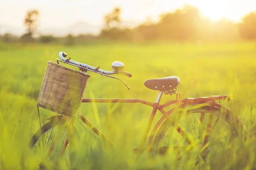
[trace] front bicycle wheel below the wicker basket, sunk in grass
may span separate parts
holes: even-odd
[[[76,169],[76,142],[79,138],[70,119],[44,124],[30,139],[36,169]]]

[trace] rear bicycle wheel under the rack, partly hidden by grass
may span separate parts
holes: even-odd
[[[172,152],[179,158],[184,153],[191,156],[193,148],[199,147],[204,158],[236,138],[239,130],[246,130],[228,109],[214,107],[211,111],[209,105],[188,106],[170,118],[163,121],[153,140],[153,148],[160,155]]]

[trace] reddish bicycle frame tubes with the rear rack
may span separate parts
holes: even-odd
[[[145,143],[145,140],[149,134],[149,130],[150,127],[152,126],[152,122],[154,120],[154,116],[157,112],[157,110],[159,110],[163,116],[158,120],[158,122],[156,123],[156,125],[154,125],[154,128],[149,136],[149,140],[151,141],[152,138],[154,137],[154,133],[157,131],[157,127],[159,127],[159,125],[161,124],[161,122],[163,122],[164,119],[169,119],[170,115],[175,111],[175,109],[180,109],[180,108],[184,108],[185,106],[188,105],[195,105],[195,104],[205,104],[205,105],[211,105],[212,107],[215,106],[215,101],[216,100],[231,100],[229,95],[221,95],[221,96],[208,96],[208,97],[198,97],[198,98],[187,98],[187,99],[175,99],[175,100],[171,100],[169,102],[166,102],[163,105],[160,105],[160,99],[163,95],[163,91],[159,91],[158,96],[156,101],[153,102],[149,102],[143,99],[83,99],[82,102],[84,103],[90,103],[90,102],[99,102],[99,103],[142,103],[144,105],[148,105],[151,106],[153,109],[151,111],[151,114],[149,116],[148,119],[148,123],[146,125],[146,129],[143,133],[143,136],[140,140],[140,144],[137,148],[133,148],[137,153],[136,156],[138,156],[142,150],[143,150],[143,144]],[[170,109],[169,111],[166,111],[164,108],[172,105],[172,104],[176,104],[177,107],[174,107],[172,109]],[[224,107],[221,105],[221,107]],[[227,109],[227,108],[226,108]],[[90,127],[97,135],[101,136],[102,139],[104,141],[107,141],[111,144],[113,144],[97,127],[95,127],[88,119],[86,119],[83,115],[80,115],[79,118],[81,119],[81,121],[83,121],[88,127]],[[209,119],[209,124],[211,124],[211,119]],[[179,129],[180,131],[183,131],[181,128]],[[208,137],[206,137],[205,143],[208,142]],[[150,142],[148,142],[148,147],[145,147],[144,149],[148,149],[150,150]]]

